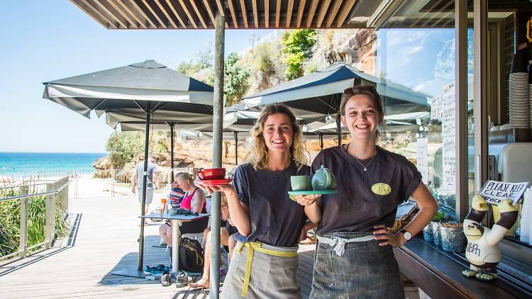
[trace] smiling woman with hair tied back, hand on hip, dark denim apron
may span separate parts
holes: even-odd
[[[417,235],[438,205],[414,164],[376,145],[384,113],[373,86],[345,89],[341,121],[351,141],[318,153],[312,171],[325,165],[338,193],[320,200],[323,217],[310,298],[404,298],[392,247]],[[397,205],[414,198],[419,213],[392,234]]]

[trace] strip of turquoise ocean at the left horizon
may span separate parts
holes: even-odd
[[[66,174],[68,171],[94,171],[92,163],[106,153],[0,152],[0,176]]]

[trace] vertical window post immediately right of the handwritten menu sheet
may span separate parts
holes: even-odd
[[[455,1],[456,220],[469,210],[467,190],[467,1]]]

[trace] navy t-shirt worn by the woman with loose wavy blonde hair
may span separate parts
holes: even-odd
[[[251,232],[236,235],[239,242],[261,242],[278,247],[297,245],[306,221],[304,207],[288,197],[290,176],[309,175],[310,167],[290,164],[283,171],[257,170],[250,163],[240,165],[233,179],[242,203],[250,208]]]

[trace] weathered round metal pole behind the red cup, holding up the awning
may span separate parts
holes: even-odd
[[[213,167],[222,165],[222,125],[223,125],[223,51],[225,47],[225,16],[216,12],[214,42],[214,114],[213,114]],[[211,205],[211,293],[210,298],[220,296],[220,201],[221,193],[215,192]]]

